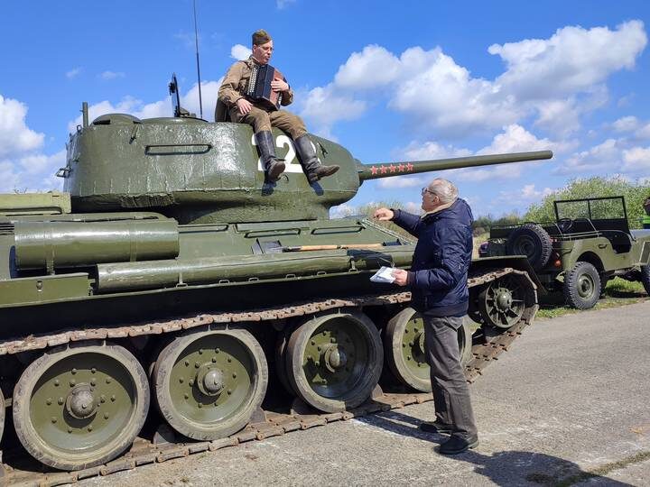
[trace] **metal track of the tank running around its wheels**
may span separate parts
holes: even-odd
[[[525,271],[517,271],[512,268],[503,268],[495,271],[470,275],[469,287],[486,284],[491,280],[507,274],[519,274],[530,281],[531,289],[535,289],[534,282],[530,280]],[[209,324],[228,324],[240,322],[256,322],[287,317],[297,317],[326,311],[333,308],[358,308],[364,306],[380,306],[386,304],[406,303],[411,300],[410,292],[400,292],[385,295],[363,296],[354,299],[326,299],[304,303],[288,308],[268,308],[264,310],[250,311],[246,313],[223,313],[217,315],[199,315],[173,319],[163,322],[136,324],[133,326],[120,326],[112,328],[97,328],[91,330],[68,330],[56,335],[28,336],[22,340],[0,342],[0,355],[17,354],[32,350],[42,350],[55,345],[65,345],[70,342],[83,340],[102,340],[111,338],[125,338],[139,335],[160,335],[172,333],[184,329]],[[536,304],[527,306],[522,318],[502,333],[484,333],[482,339],[475,334],[475,342],[472,345],[474,358],[465,365],[465,376],[469,382],[475,381],[489,363],[497,360],[498,355],[506,352],[515,338],[522,334],[524,328],[533,323],[535,313],[539,308]],[[237,434],[227,438],[192,443],[153,443],[152,441],[138,437],[131,449],[121,457],[107,464],[87,468],[75,472],[29,472],[14,469],[10,464],[0,464],[0,484],[17,486],[54,486],[66,483],[79,482],[98,475],[109,475],[111,473],[132,470],[144,464],[162,463],[174,458],[182,458],[201,452],[216,451],[228,446],[237,446],[253,440],[265,440],[272,436],[281,436],[285,433],[320,427],[332,422],[359,418],[376,412],[390,409],[404,408],[410,404],[421,404],[433,400],[432,393],[385,393],[377,386],[372,397],[364,404],[355,409],[335,413],[319,413],[302,409],[292,408],[289,414],[282,414],[274,411],[259,411],[255,415],[254,422],[250,423]],[[11,400],[5,400],[6,405]],[[0,452],[0,455],[2,452]]]

